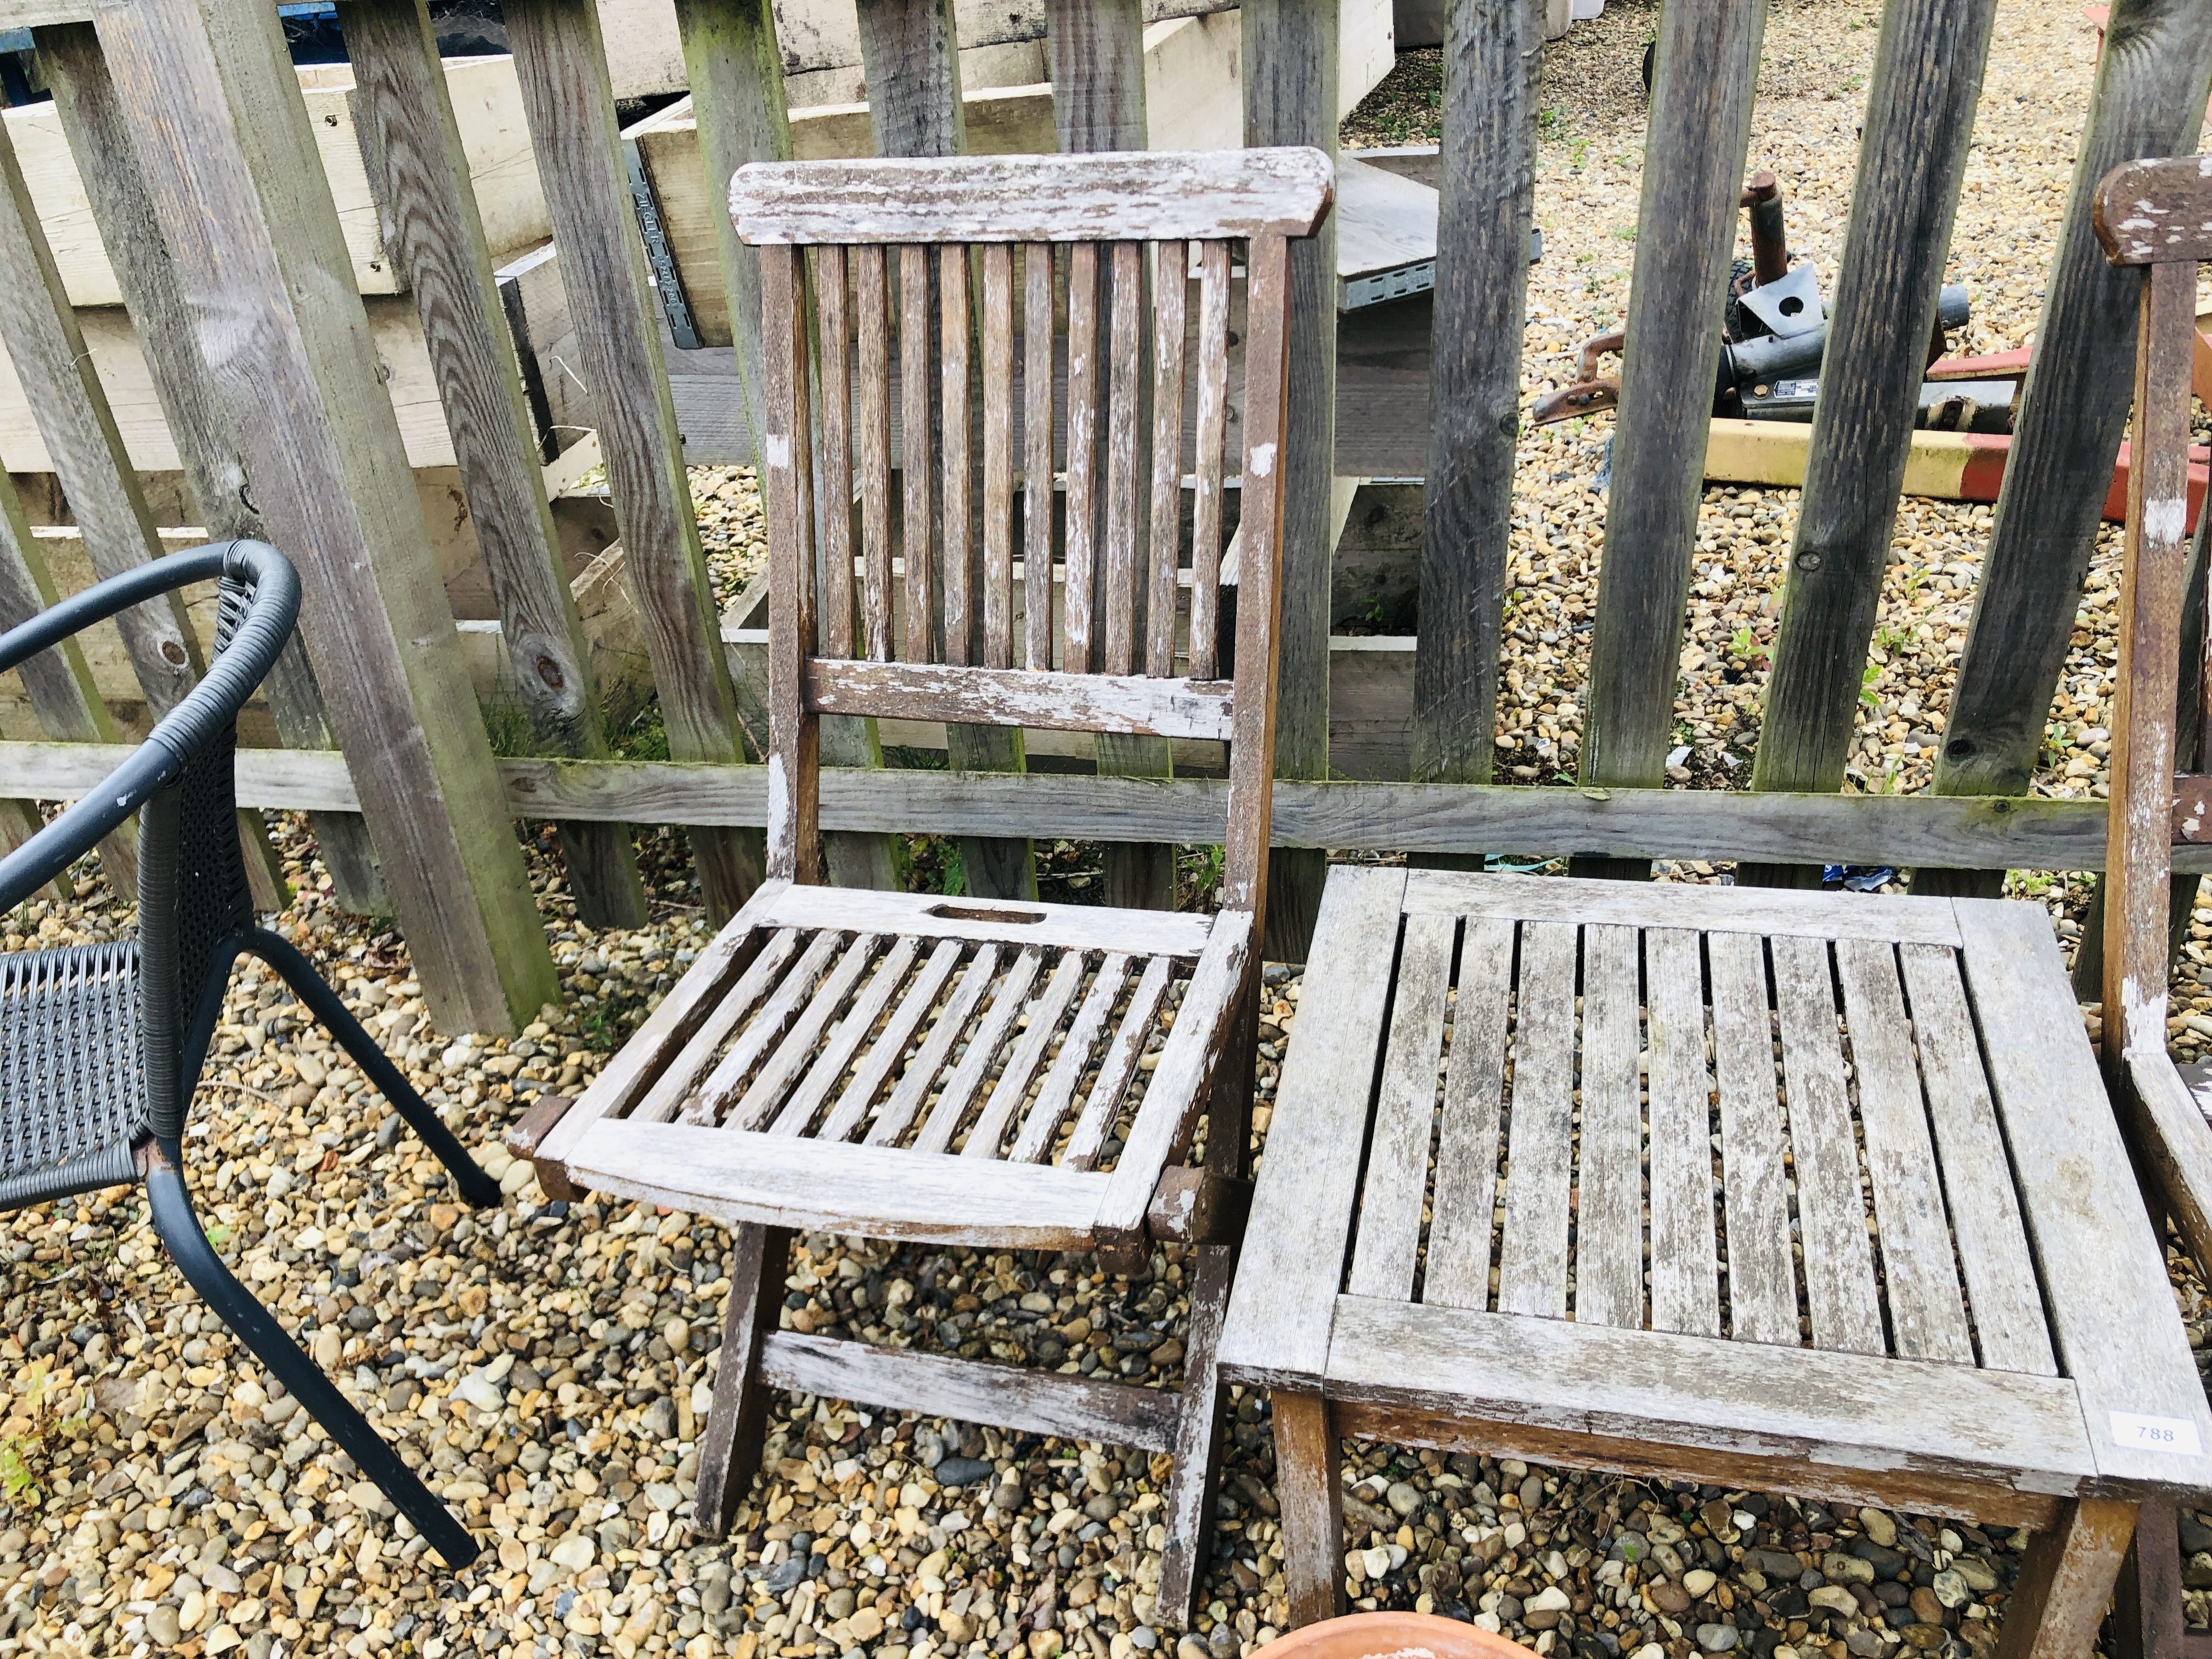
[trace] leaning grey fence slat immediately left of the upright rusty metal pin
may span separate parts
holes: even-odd
[[[1666,234],[1637,237],[1628,285],[1606,562],[1590,630],[1586,785],[1657,787],[1674,741],[1674,677],[1721,361],[1712,319],[1728,299],[1765,20],[1765,0],[1666,7],[1659,15],[1637,223],[1666,226]],[[1577,860],[1575,869],[1648,874],[1644,860],[1610,858]]]

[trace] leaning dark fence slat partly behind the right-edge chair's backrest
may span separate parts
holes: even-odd
[[[2090,199],[2121,161],[2197,148],[2208,77],[2212,0],[2115,0],[1936,757],[1936,794],[2026,794],[2042,761],[2135,385],[2137,276],[2106,261]],[[1993,898],[2002,880],[1997,869],[1924,869],[1913,891]]]

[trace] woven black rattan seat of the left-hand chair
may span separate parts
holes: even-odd
[[[0,1208],[137,1179],[137,940],[0,956]]]

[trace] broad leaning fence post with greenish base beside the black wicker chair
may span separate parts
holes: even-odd
[[[195,0],[95,22],[431,1018],[513,1029],[560,987],[283,31]]]

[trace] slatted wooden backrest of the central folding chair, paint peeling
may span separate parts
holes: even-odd
[[[1031,726],[1228,743],[1234,869],[1223,891],[1256,907],[1281,564],[1283,272],[1287,239],[1327,212],[1327,159],[781,164],[741,168],[730,199],[739,234],[763,248],[770,867],[796,880],[821,874],[818,717]],[[1245,396],[1259,400],[1245,409],[1241,465],[1225,453],[1232,254],[1252,270]],[[1186,453],[1197,471],[1188,562]],[[1228,684],[1217,679],[1217,635],[1232,471],[1245,553]],[[1186,568],[1192,633],[1179,675]]]

